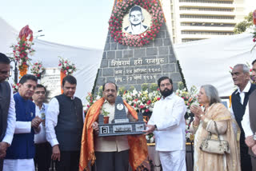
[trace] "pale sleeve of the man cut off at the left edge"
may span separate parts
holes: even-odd
[[[9,145],[11,144],[11,141],[13,141],[15,124],[16,124],[15,101],[14,101],[13,89],[11,88],[11,85],[10,85],[10,106],[9,106],[8,116],[7,116],[6,135],[2,139],[3,142],[8,143]]]

